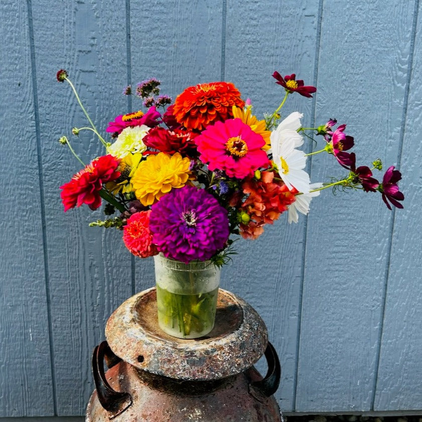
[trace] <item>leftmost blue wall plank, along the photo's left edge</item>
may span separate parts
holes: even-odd
[[[47,416],[54,402],[26,2],[6,0],[0,15],[0,417]]]

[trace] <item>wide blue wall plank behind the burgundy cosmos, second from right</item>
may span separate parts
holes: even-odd
[[[371,166],[378,156],[384,166],[397,164],[412,13],[411,2],[324,2],[318,124],[330,117],[348,124],[357,165]],[[316,156],[312,179],[323,174],[343,172],[334,158]],[[324,192],[315,205],[307,231],[296,409],[370,410],[393,214],[378,193]]]

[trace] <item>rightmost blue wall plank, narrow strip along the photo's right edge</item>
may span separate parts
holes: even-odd
[[[405,131],[400,166],[403,169],[402,187],[406,198],[404,210],[398,210],[394,218],[374,410],[422,408],[422,260],[419,229],[422,222],[422,75],[419,71],[422,65],[421,6],[415,13],[416,38],[413,54],[408,55],[411,81],[407,114],[403,122]]]

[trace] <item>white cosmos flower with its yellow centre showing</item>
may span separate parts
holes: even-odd
[[[285,136],[283,131],[271,132],[272,161],[286,186],[292,190],[308,193],[311,183],[308,173],[303,170],[306,166],[305,153],[296,150],[296,136]]]

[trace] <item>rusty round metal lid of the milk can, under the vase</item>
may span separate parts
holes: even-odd
[[[257,312],[220,289],[213,330],[200,339],[178,339],[158,325],[156,289],[132,296],[110,316],[107,342],[136,368],[185,380],[211,380],[243,372],[263,355],[268,333]]]

